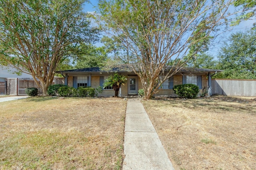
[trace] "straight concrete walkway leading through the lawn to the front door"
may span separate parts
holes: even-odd
[[[124,154],[123,170],[174,170],[138,98],[127,101]]]

